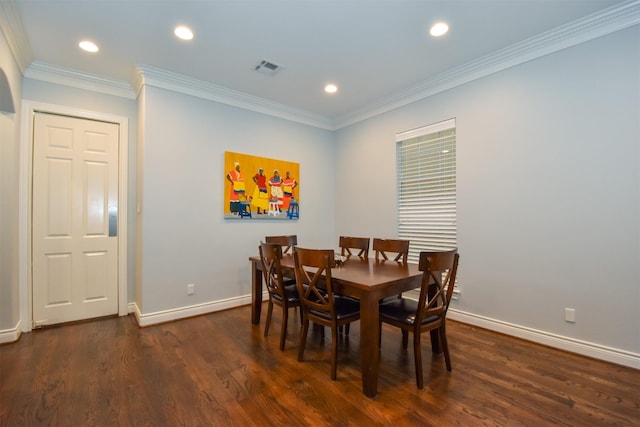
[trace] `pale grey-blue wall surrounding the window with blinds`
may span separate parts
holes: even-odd
[[[397,235],[394,135],[455,117],[454,308],[637,358],[638,52],[635,26],[340,130],[337,233]]]

